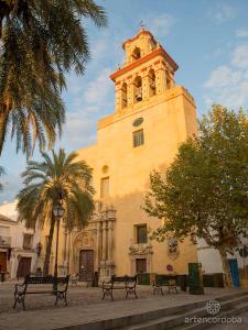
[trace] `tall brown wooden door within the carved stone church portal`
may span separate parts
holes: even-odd
[[[79,254],[80,280],[89,280],[94,277],[94,251],[82,250]]]

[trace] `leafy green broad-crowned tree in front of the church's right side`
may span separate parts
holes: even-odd
[[[227,252],[248,228],[248,119],[222,106],[200,122],[198,136],[183,143],[163,177],[150,176],[148,215],[164,219],[153,238],[183,240],[194,232],[219,251],[226,285],[231,284]]]

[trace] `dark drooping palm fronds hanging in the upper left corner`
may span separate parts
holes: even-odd
[[[65,74],[89,59],[85,18],[107,23],[94,0],[0,0],[0,154],[9,132],[28,156],[61,134]]]

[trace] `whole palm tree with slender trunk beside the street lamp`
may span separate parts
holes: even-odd
[[[18,210],[28,228],[37,221],[43,226],[50,221],[50,235],[46,246],[43,273],[48,274],[50,255],[53,242],[55,218],[53,208],[62,202],[64,220],[68,230],[86,226],[94,210],[91,168],[84,161],[76,161],[75,152],[66,155],[64,150],[52,157],[43,153],[43,162],[28,162],[22,173],[25,187],[18,194]]]

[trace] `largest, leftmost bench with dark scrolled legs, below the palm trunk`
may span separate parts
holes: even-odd
[[[25,295],[37,295],[37,294],[51,294],[56,296],[55,305],[58,300],[64,300],[67,306],[67,288],[68,288],[69,275],[66,277],[54,277],[54,276],[31,276],[28,275],[24,278],[23,284],[15,284],[14,289],[14,305],[22,304],[23,310],[25,309]],[[36,285],[40,288],[36,289]],[[44,286],[50,287],[45,287]],[[35,289],[34,289],[35,287]]]

